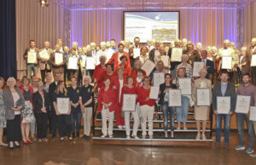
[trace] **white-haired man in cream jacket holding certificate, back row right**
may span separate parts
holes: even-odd
[[[224,41],[224,48],[219,48],[218,49],[218,56],[217,60],[218,62],[218,71],[222,69],[222,58],[226,57],[232,57],[232,68],[229,69],[230,73],[230,81],[234,83],[234,71],[236,70],[236,65],[238,64],[238,57],[236,57],[235,51],[233,48],[230,48],[230,40],[225,40]]]

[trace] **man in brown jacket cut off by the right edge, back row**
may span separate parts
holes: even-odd
[[[256,66],[251,66],[251,60],[253,54],[256,54],[256,38],[252,39],[251,46],[247,48],[247,69],[250,68],[251,75],[252,75],[252,83],[256,85]]]

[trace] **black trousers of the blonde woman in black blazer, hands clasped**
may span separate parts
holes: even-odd
[[[47,113],[35,113],[35,117],[37,119],[38,139],[44,139],[44,138],[46,138],[46,134],[47,134],[48,114]]]

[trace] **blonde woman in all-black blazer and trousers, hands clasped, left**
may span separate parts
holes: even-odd
[[[44,91],[44,83],[38,82],[38,92],[32,97],[34,105],[34,114],[37,120],[38,142],[47,142],[47,124],[49,112],[49,95]]]

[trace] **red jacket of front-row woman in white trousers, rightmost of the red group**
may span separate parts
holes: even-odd
[[[140,106],[142,105],[148,105],[148,106],[154,106],[154,100],[149,99],[146,101],[146,99],[149,97],[150,89],[145,89],[143,87],[137,88],[137,101],[140,103]]]

